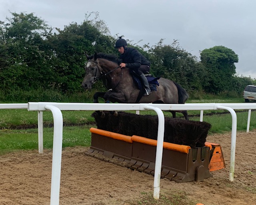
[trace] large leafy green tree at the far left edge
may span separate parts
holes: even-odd
[[[33,13],[11,14],[7,23],[1,24],[1,90],[38,88],[52,78],[47,70],[52,55],[44,44],[51,28]]]

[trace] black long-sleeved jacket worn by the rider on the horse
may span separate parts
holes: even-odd
[[[120,58],[122,63],[126,64],[126,68],[140,68],[141,65],[150,66],[150,62],[135,48],[127,47]]]

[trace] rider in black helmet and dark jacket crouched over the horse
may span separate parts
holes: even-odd
[[[120,64],[121,68],[132,69],[142,80],[144,88],[146,90],[144,96],[147,96],[151,93],[151,89],[148,84],[148,80],[144,75],[150,70],[150,62],[135,48],[127,47],[126,40],[122,37],[116,41],[115,48],[118,49],[120,53],[120,58],[122,63]]]

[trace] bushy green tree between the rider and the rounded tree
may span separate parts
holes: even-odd
[[[164,45],[163,39],[149,50],[152,73],[173,80],[189,91],[201,90],[202,66],[196,57],[180,48],[178,41]]]

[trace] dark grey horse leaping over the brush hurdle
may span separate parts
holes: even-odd
[[[82,88],[89,90],[92,84],[101,79],[108,92],[96,92],[94,103],[98,103],[98,97],[104,98],[105,102],[118,103],[168,103],[184,104],[188,99],[188,93],[178,83],[159,78],[156,91],[148,96],[143,96],[142,90],[138,88],[129,68],[120,68],[120,60],[113,54],[95,53],[86,54],[85,76]],[[173,118],[176,112],[180,112],[188,120],[186,110],[170,111]]]

